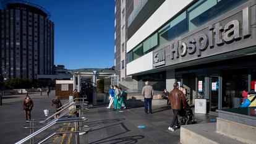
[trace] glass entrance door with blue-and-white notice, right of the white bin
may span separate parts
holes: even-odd
[[[210,77],[210,111],[218,109],[219,77]]]

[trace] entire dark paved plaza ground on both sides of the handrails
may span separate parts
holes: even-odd
[[[51,108],[54,94],[53,91],[49,98],[46,93],[43,93],[43,96],[40,96],[40,93],[30,95],[34,101],[32,119],[45,117],[43,109]],[[29,134],[28,129],[23,129],[23,125],[27,125],[22,111],[24,96],[6,96],[0,106],[2,144],[15,143]],[[112,111],[105,106],[90,108],[85,116],[88,117],[87,124],[92,127],[92,131],[82,136],[80,143],[179,143],[179,129],[175,132],[168,130],[172,113],[166,106],[153,107],[153,114],[145,114],[142,107],[124,111]],[[209,119],[215,118],[205,114],[197,114],[195,117],[198,123],[207,123],[210,122]],[[144,125],[145,128],[140,129],[139,125]],[[66,140],[63,143],[67,143]],[[74,143],[74,137],[70,143]]]

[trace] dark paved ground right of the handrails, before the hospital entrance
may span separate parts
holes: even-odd
[[[92,127],[88,141],[99,143],[179,143],[180,130],[168,130],[173,112],[166,106],[155,106],[153,114],[145,114],[143,108],[112,111],[105,107],[90,109],[88,125]],[[215,116],[197,114],[198,123],[210,122]],[[138,128],[144,125],[145,128]]]

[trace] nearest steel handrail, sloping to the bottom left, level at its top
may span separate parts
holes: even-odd
[[[65,122],[82,122],[82,121],[86,121],[86,120],[87,120],[87,118],[85,118],[85,117],[71,117],[71,118],[68,118],[68,119],[54,119],[53,121],[49,122],[48,125],[45,125],[45,127],[42,127],[41,129],[39,129],[36,132],[28,135],[27,137],[23,138],[22,140],[20,140],[19,142],[15,143],[15,144],[22,144],[24,142],[27,142],[28,140],[30,140],[31,138],[40,134],[41,132],[45,131],[46,129],[53,126],[54,124],[65,123]]]

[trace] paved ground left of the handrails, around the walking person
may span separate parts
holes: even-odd
[[[34,103],[32,119],[45,118],[43,109],[52,108],[51,100],[54,95],[54,91],[49,98],[46,93],[43,93],[43,96],[40,96],[40,93],[30,94]],[[3,104],[0,106],[1,144],[18,142],[30,133],[30,130],[23,129],[23,125],[27,125],[22,109],[23,98],[25,98],[25,95],[4,96]]]

